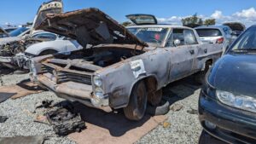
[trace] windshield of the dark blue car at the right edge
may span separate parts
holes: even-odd
[[[232,44],[231,51],[256,50],[256,26],[249,28]]]

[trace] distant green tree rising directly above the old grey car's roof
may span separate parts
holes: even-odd
[[[189,27],[196,27],[196,26],[202,26],[203,20],[197,16],[197,14],[194,14],[190,17],[186,17],[182,19],[183,26],[189,26]]]

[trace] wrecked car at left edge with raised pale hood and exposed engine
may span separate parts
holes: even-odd
[[[44,37],[44,33],[55,35],[54,33],[35,31],[36,26],[44,20],[46,14],[59,14],[63,11],[63,4],[61,0],[51,0],[48,3],[43,3],[39,9],[38,13],[35,16],[33,25],[31,28],[21,27],[20,29],[15,30],[13,33],[26,33],[30,32],[26,36],[18,37],[6,37],[0,38],[0,64],[3,66],[8,66],[10,68],[15,68],[17,61],[15,61],[15,55],[20,55],[34,43],[41,43],[45,41],[52,40],[51,37]],[[20,61],[18,61],[20,62]]]

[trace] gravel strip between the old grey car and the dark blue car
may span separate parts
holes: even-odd
[[[200,94],[200,88],[191,89],[184,85],[167,87],[165,92],[168,101],[172,101],[172,105],[179,104],[183,108],[177,112],[167,113],[167,123],[169,127],[159,125],[148,135],[143,136],[137,144],[150,143],[173,143],[173,144],[191,144],[198,143],[201,135],[201,124],[199,123],[197,114],[190,114],[188,110],[197,110],[197,103]],[[174,102],[174,103],[173,103]],[[171,106],[172,107],[172,106]]]

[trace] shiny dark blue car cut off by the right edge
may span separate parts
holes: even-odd
[[[228,143],[256,141],[256,26],[207,72],[199,118],[207,133]]]

